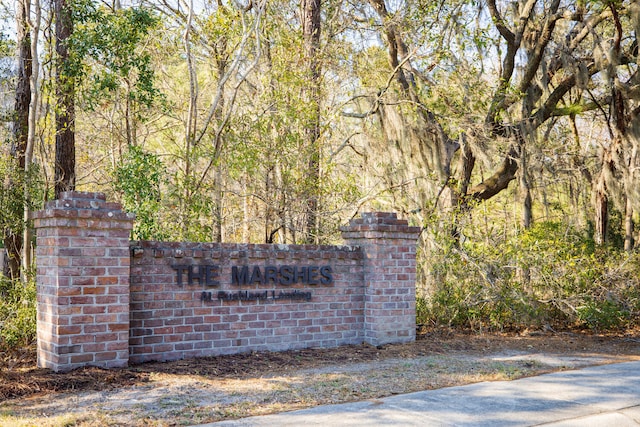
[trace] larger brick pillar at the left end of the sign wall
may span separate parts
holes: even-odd
[[[134,217],[105,200],[69,191],[34,214],[39,367],[57,372],[129,361]]]

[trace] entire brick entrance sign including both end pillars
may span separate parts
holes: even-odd
[[[100,193],[34,218],[41,367],[415,339],[419,228],[395,214],[352,220],[345,246],[130,242]]]

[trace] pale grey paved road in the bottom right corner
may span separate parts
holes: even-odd
[[[640,426],[640,362],[319,406],[206,426],[537,425]]]

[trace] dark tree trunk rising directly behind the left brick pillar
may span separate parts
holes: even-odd
[[[75,81],[66,70],[69,60],[67,46],[73,31],[70,6],[67,0],[55,0],[56,19],[56,159],[55,198],[63,191],[76,187],[76,147],[75,147]]]

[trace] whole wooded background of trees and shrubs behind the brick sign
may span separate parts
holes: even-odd
[[[134,239],[336,243],[395,211],[424,321],[637,319],[637,1],[0,4],[7,277],[78,189]]]

